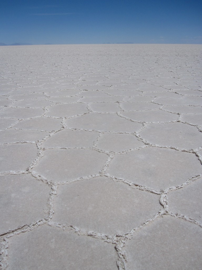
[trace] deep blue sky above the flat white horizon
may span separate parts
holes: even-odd
[[[202,1],[4,0],[0,42],[202,44]]]

